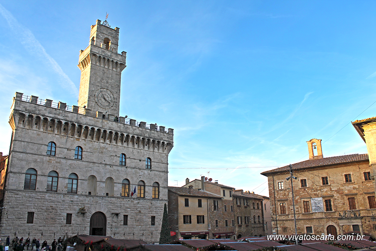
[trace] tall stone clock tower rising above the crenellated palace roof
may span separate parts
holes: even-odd
[[[81,70],[78,106],[102,112],[106,119],[119,116],[121,71],[126,52],[118,53],[119,28],[97,20],[91,26],[90,43],[80,50]]]

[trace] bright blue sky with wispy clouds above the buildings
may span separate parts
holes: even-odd
[[[259,173],[308,159],[311,138],[324,157],[367,152],[347,124],[376,101],[374,1],[0,4],[4,154],[15,91],[77,105],[79,50],[106,12],[127,52],[121,116],[174,128],[170,186],[205,175],[268,195]]]

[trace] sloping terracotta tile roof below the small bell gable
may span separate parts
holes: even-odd
[[[291,164],[293,166],[293,170],[305,169],[309,167],[318,167],[318,166],[329,166],[334,164],[341,164],[341,163],[348,163],[354,161],[363,161],[368,160],[368,154],[350,154],[350,155],[342,155],[342,156],[334,156],[316,160],[305,160],[302,162],[298,162],[295,164]],[[276,172],[286,172],[290,170],[290,166],[283,166],[273,170],[262,172],[262,175],[268,176],[268,173],[276,173]]]

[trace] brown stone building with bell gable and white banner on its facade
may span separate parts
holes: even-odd
[[[315,142],[321,150],[321,140]],[[310,160],[293,164],[292,169],[296,180],[286,180],[289,166],[262,173],[268,177],[273,234],[295,233],[292,180],[298,234],[337,235],[354,230],[376,237],[376,202],[367,154],[310,156]],[[356,224],[350,224],[354,213]]]

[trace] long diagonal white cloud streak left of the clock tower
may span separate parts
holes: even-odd
[[[71,92],[73,95],[77,95],[78,90],[76,85],[71,79],[64,73],[60,65],[53,59],[44,49],[44,47],[35,38],[33,33],[18,23],[17,19],[0,4],[0,13],[8,22],[9,27],[17,34],[19,40],[23,46],[31,53],[44,57],[49,62],[51,68],[61,77],[63,86]]]

